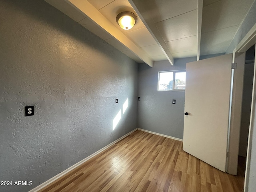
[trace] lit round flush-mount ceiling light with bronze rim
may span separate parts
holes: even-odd
[[[116,22],[124,30],[129,30],[136,24],[137,16],[132,12],[122,12],[116,16]]]

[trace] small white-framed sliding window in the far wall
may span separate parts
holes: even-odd
[[[185,70],[158,72],[158,91],[185,90],[185,88]]]

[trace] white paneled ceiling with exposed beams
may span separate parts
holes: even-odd
[[[254,0],[46,0],[138,63],[226,52]],[[123,11],[138,22],[116,23]]]

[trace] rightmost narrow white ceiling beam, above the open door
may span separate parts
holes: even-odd
[[[200,60],[200,45],[202,32],[203,0],[197,0],[197,60]]]

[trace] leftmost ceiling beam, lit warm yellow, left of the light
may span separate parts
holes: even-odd
[[[136,46],[126,35],[124,35],[114,24],[112,24],[107,18],[105,18],[92,4],[87,0],[66,0],[74,8],[80,10],[86,15],[90,20],[98,24],[100,28],[108,32],[116,40],[124,44],[128,49],[130,49],[136,56],[143,60],[150,67],[153,67],[153,60],[149,58],[148,54]]]

